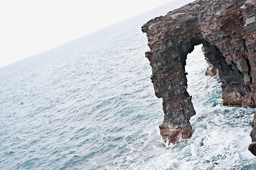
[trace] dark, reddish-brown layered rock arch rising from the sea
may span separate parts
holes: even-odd
[[[196,112],[186,91],[185,65],[195,45],[203,44],[206,60],[218,69],[223,105],[255,107],[255,11],[256,0],[198,0],[142,26],[150,47],[151,81],[163,99],[159,128],[164,141],[191,137],[189,120]]]

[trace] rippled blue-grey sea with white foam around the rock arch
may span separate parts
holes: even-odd
[[[140,27],[177,2],[1,68],[0,169],[255,169],[254,109],[222,106],[200,46],[186,66],[193,137],[161,140]]]

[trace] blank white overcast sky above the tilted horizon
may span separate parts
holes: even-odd
[[[173,0],[0,0],[0,67]]]

